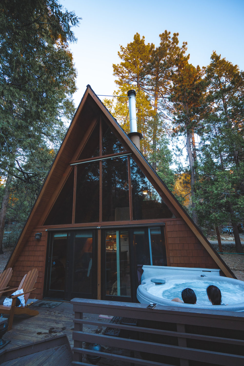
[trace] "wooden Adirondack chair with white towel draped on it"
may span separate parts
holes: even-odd
[[[20,282],[20,285],[19,285],[18,288],[12,288],[12,289],[8,289],[8,290],[5,290],[5,291],[0,291],[0,295],[1,295],[3,292],[8,292],[8,291],[14,292],[16,290],[23,289],[22,294],[11,296],[11,298],[12,298],[12,305],[11,306],[0,305],[0,313],[10,314],[9,319],[8,319],[8,330],[12,329],[14,314],[27,314],[27,315],[30,315],[30,316],[34,316],[34,315],[39,314],[39,312],[37,310],[29,309],[28,306],[15,307],[16,299],[20,295],[24,295],[25,304],[27,303],[27,300],[29,299],[31,291],[35,290],[35,288],[33,288],[33,286],[34,286],[34,284],[37,280],[37,276],[38,276],[38,270],[35,268],[35,269],[29,271],[23,277],[23,279]]]

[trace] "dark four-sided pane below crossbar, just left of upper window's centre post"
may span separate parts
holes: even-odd
[[[99,161],[77,165],[75,223],[99,221]]]

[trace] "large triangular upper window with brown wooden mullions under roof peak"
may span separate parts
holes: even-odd
[[[174,217],[108,123],[100,117],[87,136],[45,225]],[[74,192],[74,197],[73,197]]]

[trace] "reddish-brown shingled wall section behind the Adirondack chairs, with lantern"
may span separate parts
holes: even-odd
[[[39,231],[42,232],[42,237],[41,239],[36,240],[35,233]],[[35,228],[13,266],[13,275],[9,283],[11,287],[18,287],[25,274],[29,272],[29,270],[37,268],[38,277],[34,285],[36,290],[31,292],[30,298],[39,300],[42,299],[43,295],[47,238],[48,232],[45,231],[43,227],[42,229],[38,227]]]

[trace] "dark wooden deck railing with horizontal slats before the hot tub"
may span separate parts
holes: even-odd
[[[244,313],[209,311],[115,301],[72,299],[74,358],[72,365],[90,365],[82,354],[113,360],[111,365],[243,366]],[[138,326],[84,320],[83,313],[138,319]],[[119,337],[84,332],[83,324],[119,328]],[[101,328],[100,328],[101,329]],[[103,352],[87,350],[83,342],[98,343]],[[121,351],[123,350],[123,351]],[[124,362],[124,363],[123,363]],[[107,363],[106,363],[107,365]]]

